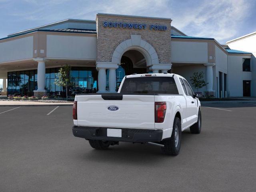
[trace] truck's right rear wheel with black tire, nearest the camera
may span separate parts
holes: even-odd
[[[164,147],[162,147],[162,151],[166,155],[178,155],[180,152],[180,143],[181,143],[181,123],[180,118],[175,117],[173,128],[172,128],[172,136],[164,141],[162,141]]]

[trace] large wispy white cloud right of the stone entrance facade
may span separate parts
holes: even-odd
[[[249,9],[246,0],[204,1],[198,8],[186,8],[185,16],[174,16],[173,24],[188,35],[216,38],[223,43],[238,34]]]

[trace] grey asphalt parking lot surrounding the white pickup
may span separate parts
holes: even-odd
[[[0,106],[0,192],[256,190],[256,104],[205,104],[201,134],[183,132],[175,157],[148,144],[94,150],[72,135],[72,107],[55,108]]]

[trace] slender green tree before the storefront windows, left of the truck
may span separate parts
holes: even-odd
[[[66,87],[66,100],[68,100],[68,87],[73,85],[70,78],[70,70],[71,67],[65,64],[59,69],[59,73],[56,74],[58,78],[56,78],[54,82],[57,86]]]

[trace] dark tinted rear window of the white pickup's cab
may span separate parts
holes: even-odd
[[[173,77],[126,78],[120,93],[179,94]]]

